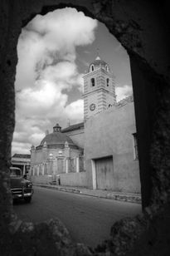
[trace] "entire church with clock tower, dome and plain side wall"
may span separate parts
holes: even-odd
[[[133,96],[116,102],[114,75],[100,57],[83,78],[84,122],[54,127],[32,147],[32,181],[60,175],[61,185],[140,193]]]

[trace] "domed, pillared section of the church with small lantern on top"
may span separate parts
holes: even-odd
[[[84,170],[83,149],[61,133],[59,124],[53,127],[52,133],[46,134],[40,145],[32,145],[31,155],[31,173],[41,177],[42,181],[44,178],[56,181],[56,175]]]

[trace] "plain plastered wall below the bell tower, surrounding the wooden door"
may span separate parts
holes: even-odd
[[[85,122],[85,170],[89,187],[93,187],[91,160],[112,155],[112,190],[140,193],[138,160],[134,160],[135,132],[134,102],[113,106]]]

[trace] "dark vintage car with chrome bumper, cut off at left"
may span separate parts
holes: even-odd
[[[32,182],[22,176],[22,170],[17,167],[10,167],[10,185],[12,199],[24,199],[27,203],[32,200]]]

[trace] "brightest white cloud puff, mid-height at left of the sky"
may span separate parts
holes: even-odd
[[[17,93],[17,112],[20,116],[32,116],[39,119],[51,116],[54,109],[65,106],[67,96],[51,81],[41,81],[37,86],[26,88]]]

